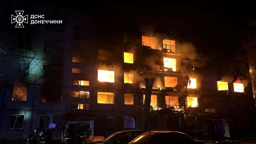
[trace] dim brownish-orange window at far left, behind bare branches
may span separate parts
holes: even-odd
[[[21,82],[15,82],[12,92],[12,100],[26,101],[28,88]]]

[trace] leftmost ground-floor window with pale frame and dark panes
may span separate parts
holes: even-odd
[[[10,129],[23,129],[25,115],[12,114],[10,119]]]

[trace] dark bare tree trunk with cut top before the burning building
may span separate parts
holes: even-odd
[[[152,87],[155,81],[155,78],[145,78],[145,100],[143,105],[143,112],[142,112],[142,119],[141,119],[141,129],[147,130],[148,129],[148,116],[150,110],[150,101],[151,101],[151,94],[152,94]]]

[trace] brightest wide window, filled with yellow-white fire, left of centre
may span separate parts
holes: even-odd
[[[100,82],[115,82],[115,72],[107,70],[98,70],[98,80]]]

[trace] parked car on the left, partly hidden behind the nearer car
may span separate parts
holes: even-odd
[[[127,144],[138,135],[147,132],[145,130],[129,130],[115,132],[97,144]]]

